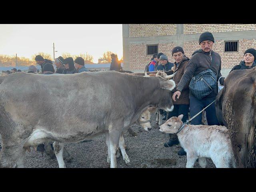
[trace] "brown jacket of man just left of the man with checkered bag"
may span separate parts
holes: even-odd
[[[176,63],[174,62],[174,73],[175,76],[172,78],[172,80],[174,80],[175,84],[178,85],[178,83],[180,82],[180,79],[182,78],[185,68],[187,66],[189,62],[189,58],[186,57],[185,55],[183,56],[183,59],[180,63]],[[182,94],[180,94],[180,98],[176,98],[176,101],[172,100],[173,104],[176,105],[189,105],[190,101],[189,101],[189,84],[190,81],[188,81],[188,83],[184,86],[183,90],[182,90]],[[175,91],[175,89],[173,90],[173,92]]]

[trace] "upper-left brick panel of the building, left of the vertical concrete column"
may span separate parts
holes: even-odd
[[[129,37],[176,34],[176,24],[129,24]]]

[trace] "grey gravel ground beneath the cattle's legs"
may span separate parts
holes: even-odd
[[[132,125],[132,129],[138,134],[131,136],[128,131],[124,134],[126,141],[126,153],[130,158],[130,164],[126,165],[122,156],[117,159],[118,168],[185,168],[186,156],[177,154],[180,145],[164,147],[165,138],[169,139],[168,134],[163,134],[158,130],[156,124],[156,114],[151,116],[152,130],[144,131],[138,125]],[[0,138],[0,142],[2,140]],[[88,142],[66,144],[66,149],[74,158],[72,162],[65,161],[67,168],[109,168],[107,162],[107,146],[105,135],[98,136]],[[207,168],[215,168],[212,160],[206,158]],[[42,155],[31,148],[31,152],[26,152],[26,168],[58,168],[58,162],[50,159],[45,153]],[[200,168],[198,162],[194,165]]]

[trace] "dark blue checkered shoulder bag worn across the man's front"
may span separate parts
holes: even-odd
[[[201,100],[209,95],[216,86],[216,74],[211,69],[207,69],[192,77],[189,90],[198,100]]]

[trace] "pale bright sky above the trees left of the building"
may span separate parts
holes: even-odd
[[[88,53],[93,61],[106,51],[114,52],[120,59],[122,48],[122,24],[0,24],[0,54],[18,57],[38,52],[55,58],[63,52]]]

